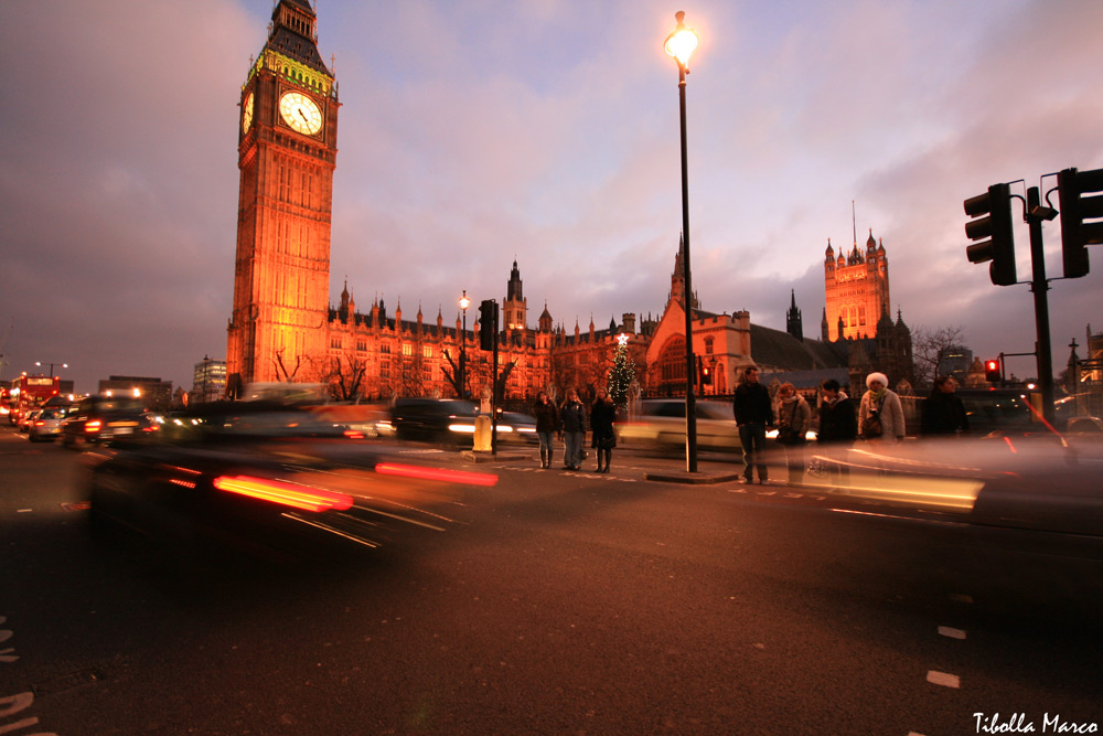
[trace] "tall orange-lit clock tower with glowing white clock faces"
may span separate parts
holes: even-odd
[[[278,0],[242,86],[231,390],[324,372],[338,89],[309,0]]]

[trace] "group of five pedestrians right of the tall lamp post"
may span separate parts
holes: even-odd
[[[866,376],[867,391],[857,406],[846,395],[838,381],[828,378],[820,386],[820,429],[816,442],[821,446],[849,447],[861,439],[868,442],[899,442],[906,434],[903,405],[900,396],[888,387],[884,373]],[[934,381],[934,390],[923,405],[921,434],[923,436],[962,435],[968,431],[968,418],[961,398],[954,394],[956,382],[952,377]],[[777,429],[777,442],[782,448],[789,470],[789,482],[804,480],[804,446],[812,423],[807,401],[792,383],[778,387],[778,399],[759,378],[758,369],[743,371],[735,392],[732,409],[743,448],[743,473],[740,482],[769,482],[768,466],[763,461],[767,450],[765,435]],[[834,477],[845,473],[845,466],[829,465]]]

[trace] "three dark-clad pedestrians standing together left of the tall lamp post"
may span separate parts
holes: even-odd
[[[581,470],[582,446],[589,427],[590,446],[598,460],[596,472],[609,472],[613,448],[617,447],[617,436],[613,434],[617,406],[608,391],[598,388],[589,408],[578,398],[578,391],[575,388],[567,391],[566,399],[558,407],[547,392],[542,391],[536,395],[533,414],[536,416],[536,435],[540,440],[540,468],[552,467],[555,455],[552,440],[557,437],[564,445],[564,470]]]

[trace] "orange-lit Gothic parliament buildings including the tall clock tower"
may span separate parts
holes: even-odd
[[[338,84],[318,50],[309,0],[275,3],[267,42],[251,63],[240,96],[237,250],[233,312],[227,327],[227,385],[254,382],[329,384],[336,398],[456,396],[456,366],[467,355],[467,390],[491,385],[490,354],[479,323],[464,330],[438,309],[427,319],[382,299],[357,307],[347,282],[329,300]],[[865,252],[824,260],[825,308],[820,340],[805,339],[795,295],[784,331],[753,324],[745,310],[706,311],[686,294],[681,244],[665,303],[656,316],[624,313],[608,326],[556,323],[547,305],[531,323],[521,270],[513,263],[502,299],[500,370],[507,401],[580,393],[603,385],[619,342],[636,367],[641,395],[678,395],[686,385],[685,310],[693,310],[693,349],[711,369],[704,394],[727,394],[741,370],[786,373],[806,385],[839,377],[864,390],[871,370],[893,385],[911,380],[911,337],[889,314],[888,258],[870,233]],[[658,295],[656,295],[658,296]],[[476,313],[473,311],[473,313]],[[620,338],[620,340],[618,340]]]

